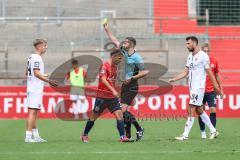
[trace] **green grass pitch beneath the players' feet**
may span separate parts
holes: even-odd
[[[219,138],[202,140],[198,122],[188,141],[175,141],[182,133],[185,120],[142,121],[145,137],[141,142],[120,143],[115,120],[96,121],[90,143],[83,144],[79,135],[85,122],[39,120],[39,130],[47,143],[26,144],[25,120],[0,120],[0,160],[72,160],[72,159],[239,159],[240,120],[219,119]],[[135,129],[132,129],[135,136]]]

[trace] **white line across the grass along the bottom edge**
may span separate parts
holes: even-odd
[[[0,152],[0,155],[26,155],[26,154],[182,154],[182,153],[240,153],[240,150],[233,151],[155,151],[155,152]]]

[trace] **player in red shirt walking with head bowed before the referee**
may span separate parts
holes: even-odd
[[[117,65],[122,61],[123,54],[120,49],[114,49],[111,52],[111,58],[108,62],[103,63],[99,71],[99,84],[97,98],[90,119],[84,129],[81,139],[84,143],[89,141],[88,133],[92,129],[95,120],[108,108],[114,114],[117,120],[117,129],[120,135],[120,142],[129,142],[125,136],[123,113],[119,102],[119,93],[115,88],[117,78]]]

